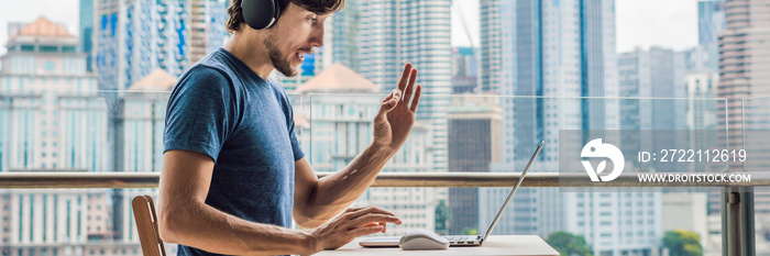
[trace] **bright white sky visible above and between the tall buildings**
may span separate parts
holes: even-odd
[[[513,0],[502,0],[513,1]],[[8,22],[32,22],[46,16],[78,34],[79,0],[0,0],[0,55],[6,53]],[[616,0],[617,52],[662,46],[685,49],[697,45],[697,0]],[[9,8],[10,7],[10,8]],[[468,31],[461,20],[465,20]],[[452,45],[477,47],[479,0],[454,0]]]

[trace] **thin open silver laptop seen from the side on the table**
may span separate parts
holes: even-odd
[[[540,142],[540,145],[538,145],[538,148],[535,149],[535,154],[532,154],[532,157],[529,158],[529,163],[527,163],[527,166],[524,168],[524,171],[521,171],[521,176],[519,177],[519,180],[516,181],[516,186],[510,190],[510,193],[508,193],[508,198],[505,199],[505,203],[503,203],[503,207],[501,207],[501,210],[497,211],[497,215],[495,216],[495,220],[492,221],[492,224],[490,225],[490,229],[486,230],[486,234],[484,235],[442,235],[442,237],[447,238],[449,241],[450,246],[481,246],[482,243],[484,243],[484,238],[486,238],[490,234],[492,234],[492,230],[495,229],[495,225],[497,224],[497,221],[501,220],[503,216],[503,212],[505,211],[505,208],[508,207],[508,203],[510,202],[510,199],[514,198],[514,193],[516,193],[516,190],[521,186],[521,181],[524,180],[524,177],[527,175],[527,171],[529,171],[529,167],[532,166],[532,163],[535,163],[535,158],[537,158],[538,154],[540,154],[540,149],[542,149],[542,145],[546,144],[546,142]],[[400,240],[400,236],[378,236],[378,237],[370,237],[366,240],[362,240],[359,242],[359,245],[364,246],[364,247],[398,247],[398,241]]]

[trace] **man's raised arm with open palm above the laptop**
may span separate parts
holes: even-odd
[[[416,79],[417,69],[407,64],[397,88],[382,101],[374,118],[374,142],[348,167],[319,180],[307,159],[295,163],[294,219],[298,225],[321,225],[348,208],[404,145],[414,125],[421,93],[420,85],[415,86]],[[381,224],[384,232],[384,223]]]

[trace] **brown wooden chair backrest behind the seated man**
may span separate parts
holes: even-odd
[[[166,248],[157,233],[157,215],[153,198],[150,196],[134,197],[131,200],[131,208],[134,212],[134,221],[136,221],[139,242],[142,244],[142,254],[144,256],[166,256]]]

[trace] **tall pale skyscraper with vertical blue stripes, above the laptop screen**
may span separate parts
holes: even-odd
[[[610,99],[546,99],[617,96],[614,1],[503,1],[501,13],[502,94],[531,97],[503,102],[505,162],[528,160],[543,140],[539,157],[558,160],[553,131],[619,127]]]

